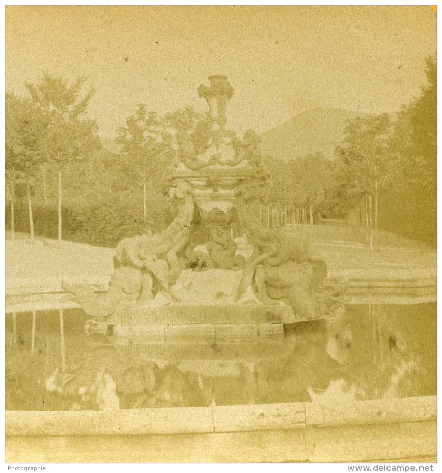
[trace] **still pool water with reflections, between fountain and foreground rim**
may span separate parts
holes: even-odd
[[[277,345],[106,346],[85,338],[85,314],[70,310],[65,372],[58,313],[37,313],[34,352],[31,314],[19,313],[16,344],[13,317],[6,320],[6,409],[338,403],[434,395],[435,311],[435,304],[347,306],[339,324],[287,326]]]

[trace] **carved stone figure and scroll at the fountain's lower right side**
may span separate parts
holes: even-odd
[[[309,243],[300,235],[263,228],[244,215],[248,241],[254,252],[247,260],[237,300],[253,291],[264,304],[289,304],[300,318],[314,319],[338,310],[345,285],[327,279],[327,265],[310,256]]]

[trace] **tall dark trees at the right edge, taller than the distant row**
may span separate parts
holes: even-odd
[[[384,213],[402,213],[408,226],[417,222],[426,225],[426,239],[431,241],[437,220],[437,92],[436,62],[432,57],[427,59],[426,75],[427,85],[420,96],[399,113],[368,116],[349,123],[345,139],[335,152],[335,176],[337,187],[348,201],[361,197],[368,200],[370,226],[375,230],[379,227],[379,200],[383,197]],[[396,208],[389,205],[388,200],[395,196],[404,204]],[[412,215],[417,218],[412,219]],[[375,238],[376,235],[377,232]]]

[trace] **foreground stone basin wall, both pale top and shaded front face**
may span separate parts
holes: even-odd
[[[436,462],[436,397],[6,412],[7,462]]]

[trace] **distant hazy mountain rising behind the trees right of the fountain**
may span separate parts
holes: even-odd
[[[281,159],[316,152],[333,159],[347,122],[358,116],[364,114],[341,108],[320,107],[302,112],[283,125],[262,133],[261,151]]]

